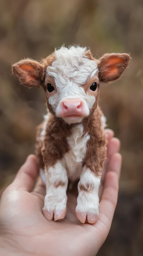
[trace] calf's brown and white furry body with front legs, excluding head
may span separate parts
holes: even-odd
[[[47,113],[45,121],[38,127],[36,155],[47,184],[44,209],[49,213],[56,212],[55,220],[61,213],[65,215],[68,179],[74,182],[79,178],[76,212],[82,212],[82,222],[86,215],[90,223],[98,217],[98,188],[106,158],[103,117],[97,107],[91,119],[85,119],[82,124],[63,126],[60,120]],[[48,218],[53,218],[53,214]]]

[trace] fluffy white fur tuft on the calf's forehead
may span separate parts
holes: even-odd
[[[85,56],[86,47],[62,46],[55,50],[55,61],[47,67],[47,75],[53,76],[57,88],[63,87],[71,81],[84,84],[89,76],[98,72],[97,63]]]

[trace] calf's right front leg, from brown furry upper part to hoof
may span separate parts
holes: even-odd
[[[86,216],[88,223],[95,223],[98,219],[98,189],[106,156],[105,134],[99,136],[98,141],[96,136],[93,136],[93,139],[88,141],[84,167],[78,183],[76,214],[82,223],[85,223]]]

